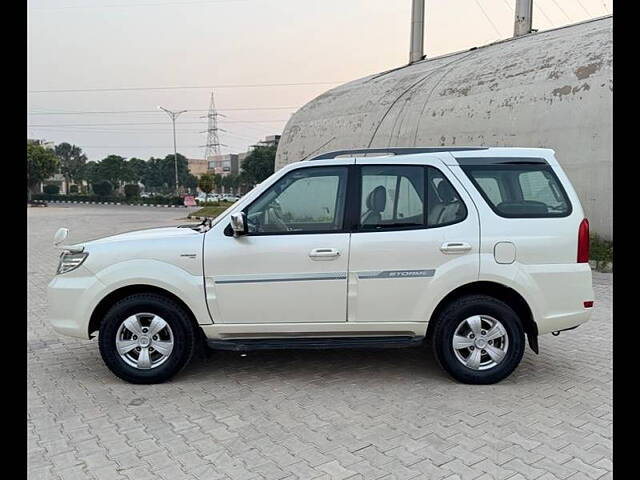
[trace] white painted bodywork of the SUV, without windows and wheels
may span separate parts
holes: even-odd
[[[544,158],[560,179],[572,213],[542,219],[498,216],[456,160],[496,156]],[[85,263],[49,284],[50,321],[59,333],[87,338],[89,320],[102,299],[123,287],[149,285],[181,299],[209,338],[420,336],[442,299],[478,281],[517,292],[540,334],[589,319],[591,309],[584,302],[593,300],[591,270],[576,263],[584,214],[552,150],[491,148],[400,160],[437,167],[464,201],[465,220],[403,231],[225,235],[232,213],[291,170],[400,163],[393,157],[298,162],[240,198],[206,233],[170,227],[82,243],[89,253]],[[464,242],[470,249],[445,255],[440,247],[446,242]],[[309,252],[316,248],[333,248],[340,255],[311,259]]]

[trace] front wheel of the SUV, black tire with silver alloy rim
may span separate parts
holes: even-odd
[[[152,384],[182,370],[193,357],[198,338],[180,305],[162,295],[139,293],[108,310],[98,343],[104,363],[116,376],[130,383]]]

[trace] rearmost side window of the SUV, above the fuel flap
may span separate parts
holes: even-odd
[[[566,217],[571,203],[547,164],[462,165],[489,206],[502,217]]]

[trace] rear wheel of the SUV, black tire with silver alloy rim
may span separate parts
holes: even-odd
[[[435,320],[431,340],[436,360],[459,382],[497,383],[522,360],[522,323],[511,307],[496,298],[462,297],[445,307]],[[492,340],[487,340],[490,337]],[[454,348],[454,341],[458,348]]]

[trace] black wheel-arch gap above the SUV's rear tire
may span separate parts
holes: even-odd
[[[462,285],[455,290],[452,290],[442,298],[429,318],[426,338],[431,338],[437,319],[447,305],[458,298],[474,294],[487,295],[496,298],[513,308],[522,322],[524,331],[527,334],[529,346],[535,353],[538,353],[538,325],[533,318],[531,307],[524,297],[513,288],[507,287],[501,283],[490,281],[477,281]]]

